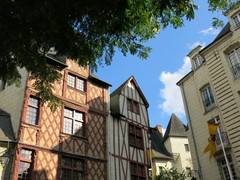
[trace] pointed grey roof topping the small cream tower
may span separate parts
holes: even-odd
[[[168,123],[163,141],[168,137],[187,137],[187,126],[173,113]]]

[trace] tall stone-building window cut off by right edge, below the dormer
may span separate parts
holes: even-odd
[[[235,78],[240,77],[240,47],[235,48],[228,54]]]

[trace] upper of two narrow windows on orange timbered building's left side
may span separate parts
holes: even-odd
[[[37,125],[38,124],[38,114],[39,114],[39,99],[30,96],[28,99],[26,123]]]

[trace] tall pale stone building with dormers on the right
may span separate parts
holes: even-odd
[[[193,49],[188,56],[192,71],[180,86],[189,124],[189,141],[198,179],[228,180],[220,137],[233,178],[240,177],[240,8],[225,13],[228,23],[207,47]],[[218,121],[217,151],[209,161],[202,155],[208,144],[208,124]]]

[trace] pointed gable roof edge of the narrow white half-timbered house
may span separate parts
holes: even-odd
[[[119,86],[115,91],[113,91],[110,95],[110,97],[113,97],[115,95],[118,95],[122,92],[123,88],[127,86],[128,82],[133,81],[133,83],[135,84],[143,102],[147,105],[147,107],[149,106],[147,99],[145,98],[143,92],[141,91],[137,81],[135,80],[134,76],[131,76],[128,80],[126,80],[121,86]]]

